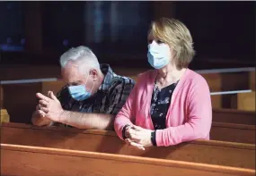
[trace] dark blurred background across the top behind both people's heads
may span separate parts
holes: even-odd
[[[57,65],[68,48],[84,45],[101,63],[150,68],[147,30],[162,16],[190,29],[190,67],[254,66],[255,2],[237,1],[0,2],[0,64]]]

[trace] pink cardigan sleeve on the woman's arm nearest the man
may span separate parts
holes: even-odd
[[[115,121],[114,121],[114,128],[119,136],[119,138],[123,139],[122,137],[122,130],[123,127],[127,124],[132,125],[133,121],[135,121],[135,108],[136,108],[136,98],[137,98],[137,84],[132,89],[131,93],[128,96],[128,99],[117,114]]]

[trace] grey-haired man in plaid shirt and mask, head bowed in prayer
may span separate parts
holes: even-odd
[[[37,126],[64,124],[79,129],[112,130],[114,117],[125,104],[135,81],[115,74],[85,46],[71,48],[60,57],[66,86],[55,96],[37,93],[39,105],[32,115]]]

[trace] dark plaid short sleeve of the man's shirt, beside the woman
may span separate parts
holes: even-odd
[[[115,83],[114,88],[110,90],[110,105],[108,106],[108,114],[117,115],[122,106],[126,103],[127,98],[134,88],[135,81],[130,79],[120,79]]]

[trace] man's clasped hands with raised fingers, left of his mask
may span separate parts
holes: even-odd
[[[48,118],[53,122],[60,122],[60,115],[64,112],[57,97],[54,96],[52,91],[49,91],[49,96],[44,96],[37,93],[36,96],[40,98],[37,110],[43,115],[44,118]]]

